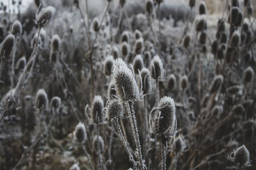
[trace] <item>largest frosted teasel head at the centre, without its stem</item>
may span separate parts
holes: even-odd
[[[140,96],[139,89],[132,71],[120,58],[116,59],[113,66],[113,80],[116,94],[122,102],[138,99]]]

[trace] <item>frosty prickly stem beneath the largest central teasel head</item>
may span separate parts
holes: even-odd
[[[135,117],[134,108],[133,108],[133,101],[127,101],[126,104],[127,104],[127,110],[129,113],[129,118],[131,120],[131,125],[133,127],[132,134],[133,134],[133,138],[134,138],[137,152],[138,152],[139,166],[140,166],[140,169],[144,169],[143,159],[141,154],[140,136],[139,136],[138,127],[136,123],[136,117]]]

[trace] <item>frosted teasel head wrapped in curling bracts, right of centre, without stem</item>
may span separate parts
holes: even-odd
[[[159,107],[150,112],[150,131],[165,137],[173,136],[177,128],[175,104],[171,97],[163,97]]]

